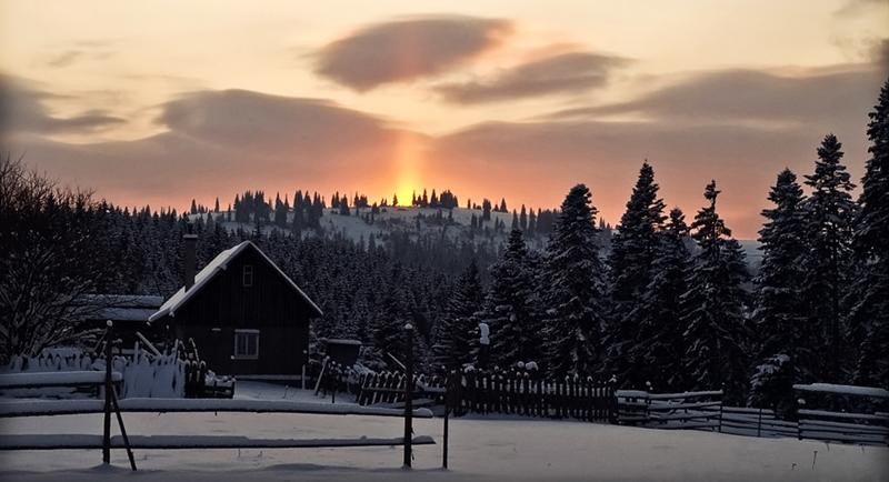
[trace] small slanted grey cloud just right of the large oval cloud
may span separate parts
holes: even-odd
[[[533,60],[480,81],[446,83],[436,90],[456,103],[575,93],[605,86],[611,70],[629,61],[590,52],[567,52]]]

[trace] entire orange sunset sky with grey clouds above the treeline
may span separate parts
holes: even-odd
[[[889,0],[0,0],[0,149],[122,205],[451,189],[617,223],[639,167],[756,238],[829,132],[860,179]]]

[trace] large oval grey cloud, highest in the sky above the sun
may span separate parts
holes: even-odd
[[[316,73],[356,91],[444,72],[497,46],[510,22],[461,16],[364,27],[316,53]]]

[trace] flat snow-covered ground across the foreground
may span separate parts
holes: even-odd
[[[314,400],[287,391],[288,400]],[[242,383],[238,396],[278,399],[282,386]],[[329,400],[328,400],[329,403]],[[340,403],[340,400],[337,400]],[[254,438],[399,436],[400,419],[250,413],[128,413],[133,434]],[[867,480],[889,479],[889,449],[755,439],[697,431],[635,429],[529,419],[451,421],[450,470],[441,465],[441,419],[416,420],[437,445],[416,448],[402,471],[400,448],[139,450],[139,472],[114,451],[102,468],[92,451],[3,452],[0,480]],[[6,419],[2,433],[100,433],[101,415]]]

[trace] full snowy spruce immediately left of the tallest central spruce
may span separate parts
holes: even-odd
[[[547,245],[541,291],[551,375],[592,373],[599,368],[605,267],[599,259],[597,212],[586,185],[571,188]]]

